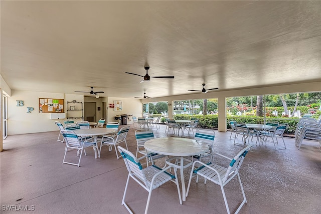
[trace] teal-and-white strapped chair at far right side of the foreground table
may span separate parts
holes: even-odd
[[[211,155],[211,159],[212,159],[213,158],[212,153],[213,153],[214,138],[215,138],[214,130],[211,130],[211,129],[197,130],[195,133],[194,139],[198,142],[207,143],[209,146],[209,150],[208,150],[208,152],[206,152],[204,154],[194,155],[193,157],[201,161],[201,159],[203,157]]]

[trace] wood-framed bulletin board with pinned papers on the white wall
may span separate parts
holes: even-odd
[[[39,98],[39,113],[63,113],[64,99]]]

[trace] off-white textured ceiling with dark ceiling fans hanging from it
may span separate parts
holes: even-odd
[[[175,79],[124,73],[146,64]],[[1,1],[1,75],[13,90],[128,98],[320,81],[321,2]]]

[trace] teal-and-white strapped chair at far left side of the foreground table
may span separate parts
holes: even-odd
[[[136,157],[137,157],[138,153],[143,154],[143,155],[148,154],[148,155],[152,156],[153,159],[165,157],[165,155],[163,155],[163,154],[148,152],[144,148],[144,143],[147,140],[155,138],[154,133],[150,129],[137,129],[135,131],[135,137],[136,137],[136,142],[137,142]],[[148,166],[148,158],[146,159],[146,163]]]

